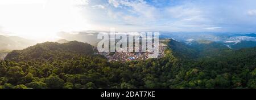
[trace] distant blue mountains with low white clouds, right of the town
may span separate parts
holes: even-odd
[[[160,38],[174,38],[177,41],[185,42],[188,45],[195,42],[198,43],[210,43],[215,44],[217,48],[223,48],[224,46],[229,49],[243,49],[247,47],[256,46],[256,34],[238,34],[238,33],[212,33],[212,32],[160,32]],[[203,40],[203,41],[202,41]],[[212,45],[214,45],[212,44]],[[206,45],[206,44],[204,44]]]

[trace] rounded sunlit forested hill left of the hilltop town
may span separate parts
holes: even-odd
[[[93,52],[92,45],[83,42],[71,41],[64,44],[44,42],[23,50],[13,50],[5,59],[13,61],[71,59],[76,55],[92,55]]]

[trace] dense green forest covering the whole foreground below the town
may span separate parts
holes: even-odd
[[[256,88],[256,47],[204,59],[165,52],[159,59],[119,63],[94,55],[82,42],[45,42],[0,61],[0,88]]]

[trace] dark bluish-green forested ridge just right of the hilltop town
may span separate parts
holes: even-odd
[[[222,52],[230,51],[229,47],[224,44],[209,40],[193,41],[186,44],[185,42],[171,39],[168,46],[177,54],[177,56],[189,59],[207,58],[220,55]]]

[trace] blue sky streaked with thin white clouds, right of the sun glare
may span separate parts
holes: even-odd
[[[94,1],[90,1],[92,3]],[[164,31],[255,32],[256,3],[234,1],[98,0],[86,16],[101,25]],[[97,6],[96,6],[97,5]],[[102,6],[104,7],[102,7]],[[234,6],[236,6],[234,8]],[[104,8],[104,10],[102,10]],[[101,13],[101,14],[97,14]],[[102,19],[102,17],[104,16]],[[126,30],[126,31],[127,31]]]

